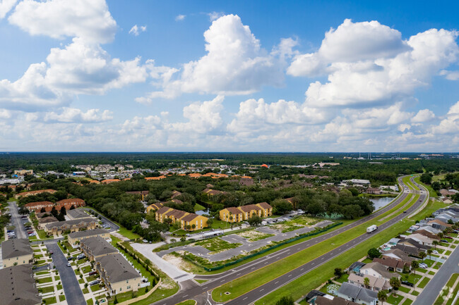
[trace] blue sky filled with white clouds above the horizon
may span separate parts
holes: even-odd
[[[0,0],[0,150],[458,151],[457,11]]]

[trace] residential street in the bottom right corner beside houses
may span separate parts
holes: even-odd
[[[413,305],[431,305],[434,304],[439,296],[443,286],[446,285],[453,273],[459,273],[459,247],[456,247],[440,267],[434,278],[432,278],[424,287],[424,290],[419,294]]]

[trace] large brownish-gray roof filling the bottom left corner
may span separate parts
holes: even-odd
[[[0,269],[0,287],[0,305],[42,304],[30,264]]]

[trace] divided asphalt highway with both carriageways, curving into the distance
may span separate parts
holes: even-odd
[[[349,230],[351,228],[356,227],[357,225],[361,225],[362,223],[365,223],[371,219],[376,218],[382,213],[385,213],[386,211],[390,210],[394,206],[397,206],[398,204],[400,204],[400,202],[402,202],[409,194],[409,192],[407,192],[407,188],[405,189],[405,185],[403,184],[401,178],[398,179],[398,182],[402,186],[403,194],[400,194],[400,196],[397,197],[391,204],[389,204],[388,206],[384,208],[381,208],[375,213],[369,216],[366,216],[360,220],[357,220],[356,222],[351,223],[350,225],[346,225],[345,227],[340,228],[338,230],[328,232],[325,235],[321,235],[320,237],[309,239],[299,244],[294,244],[290,247],[277,251],[273,254],[269,254],[268,256],[261,257],[260,259],[256,259],[255,261],[246,263],[243,266],[233,268],[232,270],[228,270],[224,273],[219,273],[216,275],[198,275],[196,276],[196,279],[209,280],[209,282],[205,282],[199,286],[195,285],[195,286],[188,287],[188,289],[181,290],[177,294],[174,294],[174,296],[169,297],[167,299],[162,299],[161,301],[157,301],[155,304],[174,305],[186,299],[192,299],[200,294],[207,293],[208,291],[213,290],[216,287],[224,285],[227,282],[231,282],[232,280],[236,280],[237,278],[240,278],[248,273],[252,273],[256,269],[266,267],[268,266],[268,264],[275,263],[276,261],[280,261],[281,259],[285,259],[285,257],[290,256],[294,253],[297,253],[298,251],[307,249],[308,247],[314,246],[314,244],[317,244],[318,242],[323,242],[324,240],[329,239],[330,237],[334,237],[344,232],[345,230]],[[415,183],[414,181],[412,182]],[[410,213],[412,213],[417,208],[419,208],[419,206],[422,205],[422,202],[425,200],[426,197],[427,197],[427,193],[423,193],[419,197],[420,201],[417,200],[417,202],[412,207],[408,208],[406,210],[407,213],[400,213],[400,215],[396,216],[395,218],[388,220],[386,223],[383,223],[382,225],[378,227],[378,230],[376,230],[374,233],[372,234],[364,233],[363,235],[360,235],[359,237],[352,239],[350,242],[347,242],[346,244],[342,244],[340,247],[333,249],[333,251],[323,254],[323,256],[319,256],[317,259],[314,259],[313,261],[309,261],[308,263],[305,263],[303,266],[300,266],[290,271],[289,273],[286,273],[285,275],[282,275],[279,278],[276,278],[275,280],[267,282],[265,285],[262,285],[261,287],[258,287],[255,290],[252,290],[251,292],[243,294],[241,297],[237,297],[236,299],[229,301],[228,304],[251,304],[257,299],[260,299],[261,297],[263,297],[264,295],[270,292],[273,292],[274,290],[277,290],[279,287],[282,287],[282,285],[286,285],[288,282],[291,282],[295,278],[298,278],[299,276],[302,276],[308,273],[314,268],[321,266],[321,264],[325,263],[326,261],[329,261],[330,259],[333,259],[336,256],[342,254],[344,251],[347,251],[348,249],[351,249],[352,247],[357,246],[357,244],[364,242],[366,239],[369,239],[374,234],[378,234],[378,232],[381,232],[381,230],[388,228],[394,223],[397,223],[399,220],[410,215]]]

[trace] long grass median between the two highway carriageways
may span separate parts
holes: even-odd
[[[299,251],[296,254],[292,254],[291,256],[282,259],[281,261],[272,263],[264,268],[254,271],[253,273],[244,275],[244,277],[242,278],[238,278],[237,280],[217,287],[215,290],[213,290],[213,299],[215,301],[228,301],[229,299],[234,299],[246,292],[249,292],[250,290],[256,287],[259,287],[265,284],[266,282],[269,282],[270,280],[274,280],[275,278],[278,278],[280,275],[283,275],[289,272],[290,270],[293,270],[294,268],[302,266],[304,263],[316,259],[317,257],[326,254],[328,251],[332,251],[336,247],[339,247],[341,244],[345,244],[346,242],[349,242],[355,237],[359,237],[360,235],[364,234],[364,232],[366,232],[366,228],[369,225],[376,224],[379,219],[384,218],[387,215],[390,215],[394,211],[397,211],[407,202],[410,202],[408,206],[411,206],[417,201],[417,198],[419,198],[419,195],[412,197],[412,194],[409,194],[407,198],[405,198],[402,202],[400,202],[400,204],[398,204],[394,208],[391,208],[391,210],[386,211],[386,213],[383,213],[380,216],[372,220],[369,220],[366,223],[363,223],[362,225],[358,225],[355,228],[346,230],[345,232],[342,232],[339,235],[336,235],[335,237],[330,237],[329,239],[326,239],[325,241],[320,242],[312,247]],[[396,215],[398,214],[400,213],[397,213]],[[393,217],[395,217],[396,215],[394,214]],[[386,221],[390,220],[391,218],[386,219]],[[386,230],[384,230],[383,232],[386,232]],[[378,235],[383,235],[384,237],[386,237],[386,234],[381,233],[378,233],[375,236]],[[225,294],[225,292],[230,292],[230,294]]]

